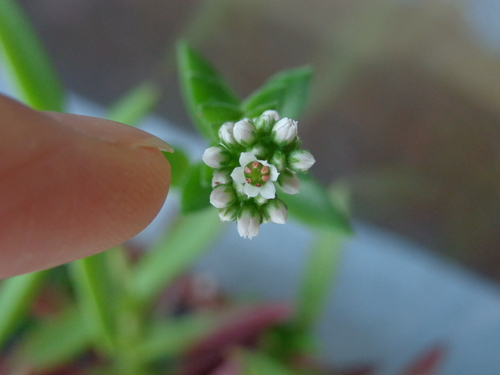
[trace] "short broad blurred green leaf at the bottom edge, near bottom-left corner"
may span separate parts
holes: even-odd
[[[70,307],[58,316],[39,322],[23,336],[18,362],[43,371],[72,362],[89,347],[80,312]]]

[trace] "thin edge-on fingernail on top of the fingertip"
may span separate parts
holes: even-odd
[[[100,139],[104,142],[127,145],[132,148],[158,148],[162,151],[174,152],[164,140],[133,126],[96,117],[73,115],[59,112],[43,112],[62,126],[76,132]]]

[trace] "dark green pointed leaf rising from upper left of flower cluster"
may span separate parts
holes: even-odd
[[[181,91],[191,118],[201,134],[216,140],[216,128],[224,121],[239,119],[235,117],[239,99],[215,68],[185,42],[177,44],[177,65]],[[217,119],[225,114],[231,118],[224,118],[217,125],[210,119],[214,114]]]

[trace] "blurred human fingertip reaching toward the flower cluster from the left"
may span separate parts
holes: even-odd
[[[96,254],[152,221],[170,165],[130,129],[0,96],[0,278]]]

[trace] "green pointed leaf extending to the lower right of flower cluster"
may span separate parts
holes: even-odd
[[[332,203],[325,188],[310,175],[300,176],[299,194],[280,194],[280,199],[288,205],[292,217],[307,225],[352,233],[347,215]]]

